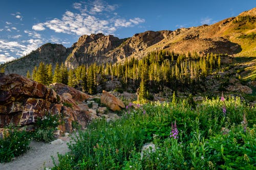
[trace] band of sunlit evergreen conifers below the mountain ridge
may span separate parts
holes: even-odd
[[[97,86],[104,87],[106,81],[119,80],[122,89],[139,88],[140,96],[148,97],[150,92],[163,90],[164,86],[171,89],[200,89],[205,77],[214,70],[221,68],[220,55],[198,53],[180,54],[169,51],[157,51],[147,54],[142,59],[126,59],[123,63],[105,63],[97,65],[80,65],[68,69],[63,63],[40,63],[34,67],[32,76],[27,77],[45,85],[54,82],[76,87],[81,91],[94,94]],[[149,88],[150,87],[150,88]]]

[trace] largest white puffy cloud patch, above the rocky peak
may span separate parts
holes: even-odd
[[[49,28],[56,33],[75,35],[90,35],[96,33],[114,34],[120,27],[133,27],[145,22],[144,19],[135,17],[124,19],[117,16],[113,11],[117,5],[109,5],[106,2],[96,0],[93,3],[74,3],[73,8],[80,13],[66,11],[62,18],[54,18],[46,22],[38,23],[32,27],[35,31],[42,31]],[[99,17],[98,15],[101,15]]]

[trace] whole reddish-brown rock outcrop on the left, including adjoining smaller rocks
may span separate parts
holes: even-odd
[[[78,104],[90,96],[62,84],[54,85],[58,94],[49,87],[26,77],[11,74],[0,75],[0,127],[10,123],[29,125],[46,114],[61,114],[62,132],[72,132],[72,122],[82,126],[89,120],[87,109]]]

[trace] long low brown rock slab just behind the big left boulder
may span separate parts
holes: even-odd
[[[86,101],[89,98],[92,98],[92,96],[76,90],[74,87],[67,86],[65,84],[61,83],[53,83],[50,84],[50,87],[53,88],[59,95],[62,95],[63,93],[69,93],[72,95],[72,99],[78,102]],[[63,94],[65,96],[67,94]]]

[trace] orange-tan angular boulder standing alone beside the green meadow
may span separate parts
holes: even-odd
[[[123,104],[122,101],[120,101],[114,95],[110,94],[105,90],[102,91],[100,102],[108,106],[113,111],[116,111],[116,110],[120,111],[121,108],[125,108],[125,105]]]

